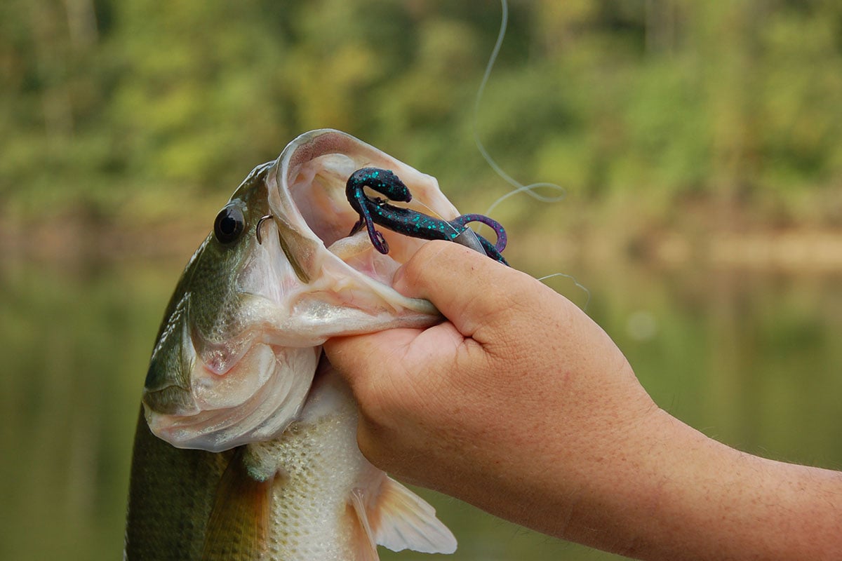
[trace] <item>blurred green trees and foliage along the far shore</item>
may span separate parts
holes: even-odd
[[[0,204],[166,213],[161,195],[228,193],[318,127],[457,201],[504,193],[471,134],[499,17],[497,0],[5,0]],[[834,0],[513,0],[477,129],[514,177],[589,204],[839,223],[840,31]]]

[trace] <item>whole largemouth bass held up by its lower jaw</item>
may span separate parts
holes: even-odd
[[[124,558],[376,561],[452,553],[434,508],[369,463],[332,336],[442,320],[392,277],[427,243],[372,246],[345,183],[392,170],[408,207],[459,215],[434,177],[338,130],[255,167],[190,258],[152,349],[132,453]]]

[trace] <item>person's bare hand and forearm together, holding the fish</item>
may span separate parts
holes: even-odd
[[[398,277],[448,320],[325,345],[378,467],[632,558],[842,559],[842,474],[741,453],[674,419],[550,288],[443,241]]]

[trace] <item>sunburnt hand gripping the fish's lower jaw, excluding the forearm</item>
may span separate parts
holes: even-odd
[[[556,535],[575,534],[576,505],[616,500],[617,463],[658,408],[605,331],[457,244],[425,244],[394,285],[447,320],[325,344],[372,463]]]

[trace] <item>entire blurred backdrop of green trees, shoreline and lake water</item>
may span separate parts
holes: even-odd
[[[477,133],[567,197],[494,209],[509,261],[589,288],[680,419],[842,468],[842,4],[510,9]],[[0,3],[0,558],[120,558],[164,306],[296,135],[356,135],[462,212],[509,192],[472,137],[499,23],[497,0]],[[425,496],[460,540],[448,559],[619,559]]]

